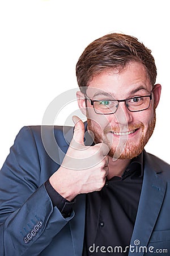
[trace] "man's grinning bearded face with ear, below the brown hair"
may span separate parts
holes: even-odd
[[[119,102],[116,113],[97,114],[87,100],[88,130],[94,133],[95,143],[108,144],[111,157],[131,159],[142,152],[154,131],[160,85],[152,90],[145,67],[137,62],[131,62],[121,72],[100,73],[90,82],[86,93],[91,100],[124,100],[148,96],[151,91],[150,107],[141,112],[130,112],[125,102]]]

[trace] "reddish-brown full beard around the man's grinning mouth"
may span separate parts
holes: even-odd
[[[129,130],[141,129],[142,132],[139,135],[140,138],[138,142],[133,144],[129,141],[128,135],[124,138],[121,138],[120,136],[119,142],[115,146],[113,142],[113,135],[112,135],[112,139],[109,139],[108,134],[110,134],[111,131],[119,132],[120,127],[112,127],[111,129],[107,127],[103,131],[99,132],[99,129],[96,129],[96,127],[99,125],[97,125],[96,123],[96,126],[94,127],[94,125],[92,125],[91,119],[88,118],[88,115],[87,115],[87,129],[88,131],[92,131],[92,133],[94,134],[94,142],[96,144],[101,142],[107,144],[107,146],[110,149],[108,155],[111,156],[111,158],[113,158],[114,160],[132,159],[138,156],[139,154],[141,154],[141,152],[143,151],[145,145],[147,144],[148,140],[150,139],[155,129],[155,123],[156,123],[156,113],[154,108],[154,117],[152,118],[150,123],[148,123],[146,134],[144,134],[145,125],[142,122],[134,125],[128,125]]]

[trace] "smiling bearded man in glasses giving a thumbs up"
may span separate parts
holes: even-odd
[[[105,35],[84,50],[76,76],[87,123],[74,116],[74,129],[54,128],[58,162],[44,148],[49,127],[29,126],[2,167],[0,254],[167,253],[170,168],[144,150],[161,91],[151,51]]]

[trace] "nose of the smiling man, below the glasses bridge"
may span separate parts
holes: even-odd
[[[114,113],[114,122],[120,125],[126,125],[133,121],[133,113],[126,107],[125,102],[119,102],[116,113]]]

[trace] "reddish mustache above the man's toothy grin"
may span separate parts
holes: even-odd
[[[137,124],[131,124],[128,126],[110,126],[110,127],[105,127],[103,133],[110,133],[110,132],[116,132],[116,133],[120,133],[120,132],[125,132],[125,131],[131,131],[131,130],[137,130],[139,128],[142,128],[142,130],[144,129],[144,125],[143,123],[137,123]]]

